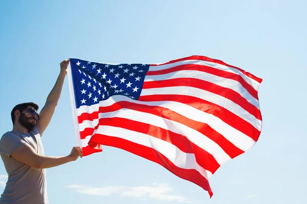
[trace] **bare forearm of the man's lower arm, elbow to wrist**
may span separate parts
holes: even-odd
[[[73,159],[70,156],[65,156],[65,157],[40,156],[39,159],[37,160],[36,168],[46,169],[72,161]]]

